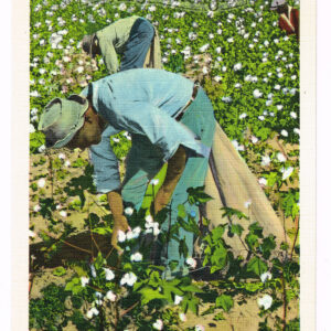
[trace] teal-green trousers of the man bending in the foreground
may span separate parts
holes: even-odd
[[[211,100],[205,92],[200,88],[194,102],[189,106],[180,120],[190,128],[195,136],[207,147],[212,147],[215,118]],[[137,160],[141,160],[137,162]],[[163,166],[160,151],[153,147],[145,137],[132,137],[132,147],[127,157],[127,171],[122,186],[122,199],[126,205],[132,205],[137,210],[141,206],[148,182]],[[171,213],[162,224],[161,229],[168,232],[169,225],[174,224],[178,216],[178,205],[188,200],[189,188],[202,186],[209,167],[209,158],[197,157],[189,151],[185,169],[178,182],[171,199]],[[199,207],[185,204],[188,213],[196,215],[199,221]],[[185,238],[189,255],[193,254],[193,234],[180,229],[180,238]],[[162,247],[161,258],[167,261],[178,260],[180,266],[184,265],[183,256],[179,254],[179,243],[171,241],[168,247]]]

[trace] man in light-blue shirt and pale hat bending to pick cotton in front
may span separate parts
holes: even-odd
[[[214,128],[213,107],[202,88],[181,75],[140,68],[92,83],[79,96],[53,99],[39,126],[46,147],[89,148],[97,191],[107,193],[114,215],[114,246],[117,232],[128,228],[122,201],[139,209],[149,181],[166,162],[156,212],[172,197],[171,220],[177,220],[177,206],[186,200],[186,189],[204,184]],[[121,130],[132,137],[124,183],[109,143],[109,137]],[[196,206],[191,212],[199,214]],[[192,254],[193,234],[181,229],[180,236],[186,238]],[[170,243],[168,255],[182,259],[177,242]]]

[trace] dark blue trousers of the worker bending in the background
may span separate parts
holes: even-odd
[[[132,25],[126,50],[122,54],[119,67],[120,72],[143,66],[153,36],[153,25],[146,19],[137,19]]]

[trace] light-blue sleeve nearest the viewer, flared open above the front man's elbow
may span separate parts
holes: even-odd
[[[121,129],[146,136],[162,151],[164,162],[168,162],[180,145],[199,157],[209,157],[210,148],[199,141],[188,127],[151,103],[122,103],[116,108],[121,115],[117,117]]]

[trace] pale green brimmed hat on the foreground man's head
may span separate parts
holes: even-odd
[[[47,148],[67,145],[84,125],[88,100],[79,95],[51,100],[41,115],[38,129],[45,134]]]

